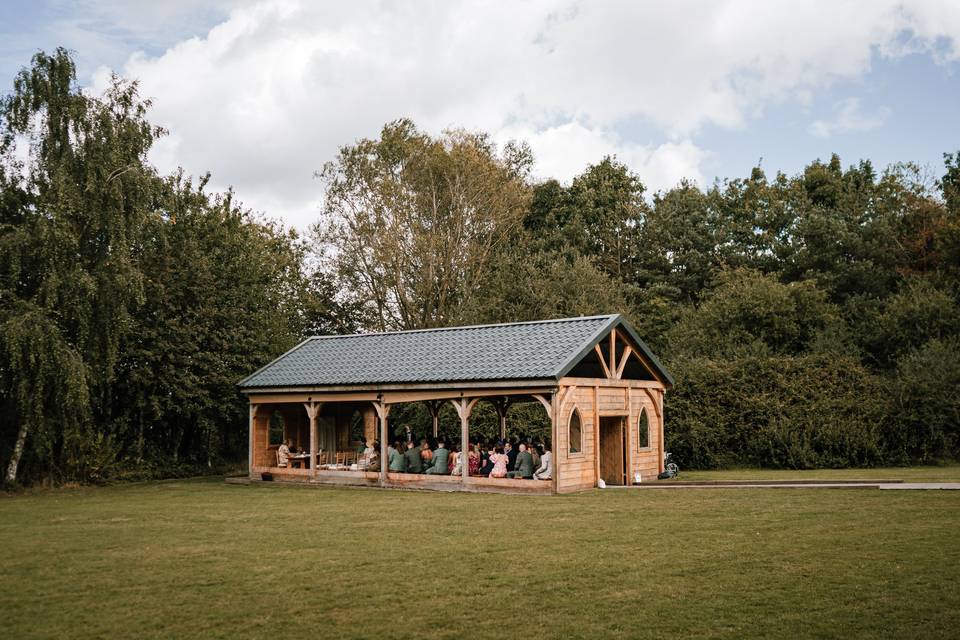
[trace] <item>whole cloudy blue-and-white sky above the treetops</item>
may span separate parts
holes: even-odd
[[[539,177],[614,154],[652,190],[960,149],[960,2],[4,0],[0,87],[37,49],[137,78],[163,171],[306,227],[314,170],[413,118],[525,139]]]

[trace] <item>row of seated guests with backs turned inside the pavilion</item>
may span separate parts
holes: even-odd
[[[417,445],[395,441],[387,447],[388,469],[395,473],[426,473],[430,475],[460,475],[466,461],[471,476],[491,478],[525,478],[550,480],[553,474],[553,455],[549,445],[533,444],[529,440],[488,443],[481,447],[471,443],[466,455],[457,444],[447,447],[439,441],[433,448],[426,439]]]

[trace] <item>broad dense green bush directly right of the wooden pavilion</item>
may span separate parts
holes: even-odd
[[[887,399],[879,378],[846,356],[671,363],[666,443],[686,467],[809,469],[884,460]]]

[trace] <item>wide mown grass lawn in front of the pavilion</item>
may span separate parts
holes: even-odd
[[[693,474],[690,474],[693,475]],[[960,492],[0,497],[4,638],[956,638]]]

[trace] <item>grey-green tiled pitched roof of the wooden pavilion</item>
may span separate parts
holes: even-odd
[[[559,379],[614,327],[673,380],[619,315],[309,338],[242,389]]]

